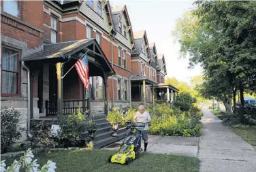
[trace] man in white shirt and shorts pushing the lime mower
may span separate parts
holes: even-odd
[[[146,112],[143,105],[139,106],[139,110],[133,116],[133,121],[136,123],[145,124],[143,131],[136,131],[136,137],[140,136],[140,132],[142,132],[142,139],[144,141],[144,152],[146,152],[146,147],[148,146],[148,123],[151,121],[150,114]]]

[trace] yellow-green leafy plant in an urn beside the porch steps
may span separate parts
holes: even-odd
[[[112,111],[108,112],[107,120],[114,131],[112,136],[117,136],[116,131],[118,130],[118,125],[123,121],[123,113],[118,108],[113,108]]]

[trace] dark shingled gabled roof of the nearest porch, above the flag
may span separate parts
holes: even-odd
[[[22,61],[33,62],[38,60],[78,60],[80,58],[78,54],[87,50],[89,50],[89,56],[96,58],[96,61],[103,66],[108,74],[115,74],[114,69],[110,65],[110,62],[95,39],[82,39],[44,45],[43,50],[23,58]],[[95,63],[95,61],[91,61],[90,58],[89,62]]]

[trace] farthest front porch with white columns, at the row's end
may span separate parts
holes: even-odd
[[[155,85],[155,98],[157,103],[170,103],[176,101],[178,89],[170,84],[159,83]]]

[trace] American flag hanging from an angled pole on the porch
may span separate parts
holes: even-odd
[[[78,75],[84,84],[84,87],[89,90],[89,66],[88,66],[88,56],[87,54],[82,57],[78,62],[75,64],[76,70],[78,71]]]

